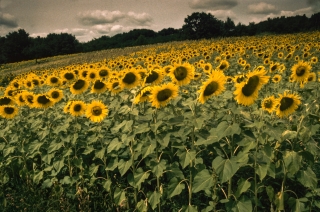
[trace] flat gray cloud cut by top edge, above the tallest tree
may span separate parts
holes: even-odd
[[[237,0],[191,0],[189,2],[189,7],[192,9],[227,10],[237,5]]]

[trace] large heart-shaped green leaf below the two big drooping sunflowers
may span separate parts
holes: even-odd
[[[212,161],[212,168],[219,175],[221,183],[228,181],[239,169],[235,161],[223,159],[221,156],[216,157]]]

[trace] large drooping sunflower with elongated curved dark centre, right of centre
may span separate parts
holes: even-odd
[[[270,76],[266,76],[266,70],[253,71],[247,74],[247,80],[236,84],[235,100],[238,104],[245,106],[252,105],[258,98],[260,88],[269,81]]]

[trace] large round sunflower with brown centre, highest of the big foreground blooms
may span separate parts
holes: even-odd
[[[176,63],[168,74],[177,85],[187,85],[194,78],[194,66],[189,63]]]

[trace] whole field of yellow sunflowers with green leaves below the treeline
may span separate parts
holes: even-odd
[[[0,91],[2,211],[320,210],[320,32],[186,41]]]

